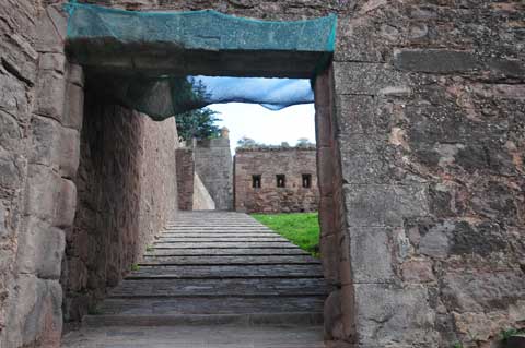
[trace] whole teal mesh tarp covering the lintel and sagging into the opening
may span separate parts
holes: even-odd
[[[98,51],[101,56],[107,52],[126,56],[132,55],[133,49],[144,50],[150,53],[150,60],[156,53],[162,55],[163,49],[174,56],[177,51],[191,51],[194,60],[208,57],[207,52],[314,52],[317,56],[312,57],[318,60],[312,65],[310,77],[314,77],[335,49],[335,15],[271,22],[211,10],[133,12],[75,2],[68,3],[66,10],[69,12],[67,39],[75,47],[73,60],[91,68],[96,68],[93,57]],[[93,46],[91,50],[90,46]],[[125,61],[126,57],[119,58]],[[207,59],[217,60],[212,57],[205,61]],[[110,69],[105,68],[101,79],[106,80],[104,85],[115,98],[159,120],[213,103],[256,103],[279,109],[313,101],[311,89],[305,91],[307,80],[195,77],[162,68],[145,73],[137,69],[135,61],[125,74],[120,71],[113,75]]]

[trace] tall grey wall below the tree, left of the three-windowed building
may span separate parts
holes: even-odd
[[[199,140],[194,146],[195,170],[210,193],[215,208],[233,206],[233,161],[228,137]]]

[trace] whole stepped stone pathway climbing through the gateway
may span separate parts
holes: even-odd
[[[179,213],[63,347],[323,347],[318,260],[250,216]]]

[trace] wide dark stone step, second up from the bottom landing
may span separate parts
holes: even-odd
[[[320,313],[324,297],[266,298],[147,298],[106,299],[98,312],[106,315],[177,315],[177,314],[252,314],[252,313]]]

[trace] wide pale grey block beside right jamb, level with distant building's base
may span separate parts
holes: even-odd
[[[424,184],[345,184],[343,192],[349,226],[402,226],[429,214]]]

